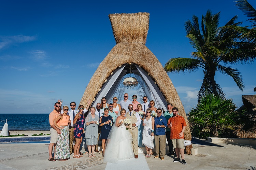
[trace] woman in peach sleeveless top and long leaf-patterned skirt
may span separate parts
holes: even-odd
[[[69,150],[69,124],[71,123],[70,116],[67,115],[68,106],[63,106],[63,114],[59,115],[54,121],[54,125],[60,129],[61,134],[58,134],[56,145],[56,160],[67,160],[70,158]],[[60,126],[58,126],[59,121]]]

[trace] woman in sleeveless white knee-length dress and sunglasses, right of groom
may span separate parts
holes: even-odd
[[[144,126],[143,133],[142,133],[142,144],[146,146],[147,154],[145,155],[146,158],[150,158],[152,155],[152,149],[154,148],[154,125],[155,119],[151,116],[152,110],[150,108],[146,111],[146,117],[143,118]]]

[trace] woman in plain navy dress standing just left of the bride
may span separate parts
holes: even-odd
[[[106,139],[108,139],[109,136],[109,132],[112,128],[112,125],[114,124],[113,120],[112,120],[112,116],[108,115],[109,114],[109,109],[108,108],[104,108],[104,115],[100,117],[100,121],[99,121],[99,126],[101,126],[101,134],[100,134],[100,138],[102,139],[102,150],[103,153],[102,155],[104,156],[105,153],[105,144],[106,144]]]

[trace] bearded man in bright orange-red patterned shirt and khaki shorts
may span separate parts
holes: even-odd
[[[181,161],[182,164],[187,165],[184,159],[184,131],[187,124],[184,117],[178,115],[177,107],[172,108],[172,113],[173,116],[168,120],[167,126],[171,129],[170,139],[172,139],[173,148],[175,149],[177,155],[177,158],[174,159],[173,162]]]

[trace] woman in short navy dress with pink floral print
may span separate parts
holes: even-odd
[[[74,138],[75,138],[75,146],[74,146],[74,155],[73,158],[80,158],[83,155],[79,154],[80,144],[82,142],[82,134],[84,133],[84,106],[80,105],[78,107],[79,112],[75,115],[75,119],[73,124],[76,124],[74,128]]]

